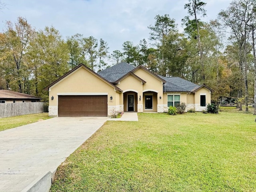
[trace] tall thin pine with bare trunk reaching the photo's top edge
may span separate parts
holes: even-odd
[[[193,17],[193,20],[196,22],[196,30],[197,30],[197,40],[198,46],[200,51],[200,63],[201,63],[201,73],[202,73],[202,81],[205,80],[204,74],[204,61],[203,61],[203,50],[200,41],[200,30],[199,30],[199,23],[198,23],[198,16],[197,14],[202,14],[202,16],[206,16],[206,11],[204,10],[204,6],[206,3],[202,2],[201,0],[189,0],[189,3],[185,4],[184,8],[188,10],[189,16],[184,18],[184,22],[190,22],[190,16]],[[193,24],[193,22],[192,22]]]

